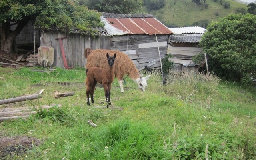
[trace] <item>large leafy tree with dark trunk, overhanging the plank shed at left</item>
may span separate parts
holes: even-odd
[[[94,34],[92,27],[103,26],[100,13],[72,0],[1,0],[0,12],[0,50],[6,54],[14,52],[13,42],[30,20],[42,29],[87,34]],[[10,31],[12,24],[17,27]]]

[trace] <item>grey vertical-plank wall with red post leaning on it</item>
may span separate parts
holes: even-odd
[[[84,58],[84,49],[90,47],[94,49],[109,49],[108,36],[99,36],[92,38],[90,36],[80,34],[66,34],[64,32],[42,32],[42,46],[52,46],[54,48],[54,64],[64,68],[64,62],[62,60],[62,54],[60,50],[60,44],[56,38],[66,36],[62,39],[64,52],[68,67],[84,67],[86,60]]]

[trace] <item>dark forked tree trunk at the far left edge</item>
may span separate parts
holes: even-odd
[[[0,50],[6,54],[14,54],[12,48],[13,42],[20,34],[20,31],[26,26],[30,18],[24,18],[18,22],[18,26],[14,31],[10,31],[10,22],[2,23],[0,26]]]

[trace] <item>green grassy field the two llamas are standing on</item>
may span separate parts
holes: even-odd
[[[256,157],[256,89],[223,82],[216,76],[175,74],[161,84],[153,72],[146,92],[127,78],[120,93],[112,84],[106,108],[104,90],[96,87],[95,104],[86,105],[84,69],[34,72],[30,68],[0,68],[0,99],[33,94],[42,98],[4,104],[4,107],[62,104],[27,119],[0,123],[0,138],[32,136],[41,140],[26,154],[6,159],[241,159]],[[70,82],[60,85],[58,82]],[[54,92],[75,95],[54,98]],[[100,106],[100,107],[98,107]],[[122,110],[117,109],[122,107]],[[43,115],[43,116],[40,116]],[[92,120],[98,127],[88,125]],[[207,153],[207,155],[205,154]]]

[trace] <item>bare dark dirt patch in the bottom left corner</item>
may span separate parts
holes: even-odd
[[[1,136],[0,132],[0,160],[5,160],[6,156],[23,155],[33,148],[38,146],[40,140],[29,136]]]

